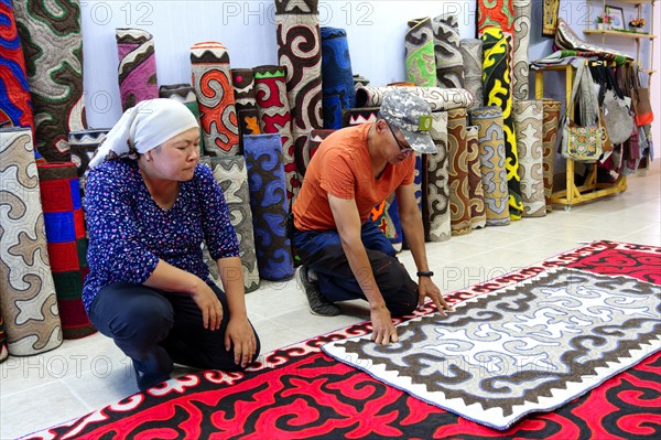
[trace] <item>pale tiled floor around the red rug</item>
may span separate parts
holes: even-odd
[[[661,246],[659,161],[644,178],[629,178],[624,194],[573,207],[543,218],[489,227],[429,244],[431,269],[448,292],[595,239]],[[409,253],[401,260],[414,270]],[[264,282],[247,296],[262,353],[369,319],[365,303],[345,305],[347,314],[314,316],[295,281]],[[0,365],[0,438],[15,438],[83,416],[138,389],[130,361],[99,334],[65,341],[37,356],[10,357]]]

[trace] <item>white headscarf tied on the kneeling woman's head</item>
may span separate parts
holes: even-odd
[[[142,100],[124,111],[108,132],[89,161],[89,169],[95,169],[107,160],[143,154],[197,127],[197,119],[182,103],[164,98]]]

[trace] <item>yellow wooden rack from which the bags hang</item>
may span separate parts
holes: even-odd
[[[559,66],[546,66],[538,68],[534,73],[534,86],[535,86],[535,98],[542,99],[544,97],[544,73],[545,72],[564,72],[565,73],[565,111],[570,111],[567,115],[573,115],[573,108],[567,108],[572,100],[572,86],[574,82],[574,75],[576,69],[571,63]],[[571,116],[570,116],[571,117]],[[559,127],[559,131],[562,127]],[[559,137],[562,132],[559,133]],[[565,211],[570,211],[572,206],[590,202],[597,198],[603,198],[608,195],[618,194],[627,190],[627,178],[619,175],[614,183],[597,183],[597,167],[594,164],[590,167],[589,174],[585,182],[576,186],[574,180],[574,160],[565,159],[566,164],[566,182],[565,189],[555,191],[551,194],[551,202],[559,205],[564,205]]]

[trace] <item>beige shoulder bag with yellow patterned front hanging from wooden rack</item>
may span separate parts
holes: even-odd
[[[582,95],[587,97],[587,99],[583,100],[581,107],[581,110],[584,114],[581,117],[582,124],[585,124],[583,126],[575,124],[570,117],[570,112],[576,108],[576,98],[579,89],[583,90]],[[594,103],[590,103],[593,99]],[[572,97],[566,105],[567,110],[565,111],[562,130],[561,154],[565,159],[594,163],[602,155],[602,128],[598,124],[595,124],[598,120],[598,109],[596,111],[596,118],[586,116],[590,115],[590,111],[594,112],[594,109],[592,109],[594,106],[598,108],[596,96],[594,95],[592,76],[589,75],[589,71],[585,68],[585,62],[582,62],[576,69],[574,86],[572,87]],[[592,121],[586,120],[587,118],[590,118]]]

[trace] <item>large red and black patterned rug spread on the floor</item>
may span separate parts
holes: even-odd
[[[661,248],[596,242],[448,296],[459,302],[550,268],[661,285]],[[421,313],[433,312],[427,307]],[[411,316],[413,318],[413,316]],[[661,325],[661,324],[660,324]],[[277,350],[251,372],[201,372],[130,396],[30,439],[658,439],[661,356],[653,354],[552,412],[505,431],[431,406],[319,350],[367,323]]]

